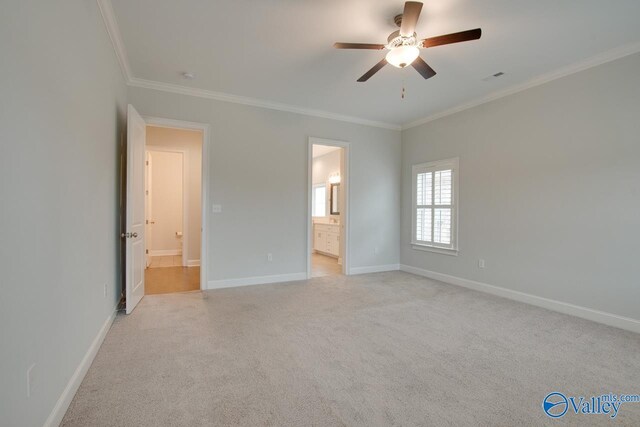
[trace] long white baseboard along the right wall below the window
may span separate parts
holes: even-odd
[[[410,265],[400,265],[400,270],[407,273],[417,274],[418,276],[428,277],[430,279],[439,280],[441,282],[450,283],[452,285],[462,286],[488,294],[497,295],[499,297],[511,299],[514,301],[524,302],[526,304],[535,305],[546,308],[548,310],[557,311],[572,316],[581,317],[605,325],[614,326],[627,331],[640,333],[640,320],[630,317],[618,316],[617,314],[607,313],[604,311],[594,310],[592,308],[581,307],[579,305],[569,304],[562,301],[556,301],[549,298],[539,297],[520,291],[501,288],[499,286],[489,285],[487,283],[476,282],[475,280],[463,279],[461,277],[450,276],[448,274],[437,273],[435,271],[424,270],[422,268],[412,267]]]

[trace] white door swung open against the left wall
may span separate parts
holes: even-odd
[[[132,105],[127,109],[126,311],[144,296],[144,162],[146,124]]]

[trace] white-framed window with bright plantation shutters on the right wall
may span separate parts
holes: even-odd
[[[417,249],[457,251],[458,159],[413,166],[413,227]]]

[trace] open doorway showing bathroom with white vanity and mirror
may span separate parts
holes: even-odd
[[[308,277],[346,274],[346,143],[311,138]]]

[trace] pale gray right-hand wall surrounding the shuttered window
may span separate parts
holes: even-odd
[[[640,320],[639,117],[636,54],[403,131],[402,263]],[[457,257],[410,245],[411,165],[451,157]]]

